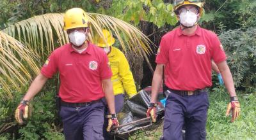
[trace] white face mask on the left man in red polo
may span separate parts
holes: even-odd
[[[79,32],[79,31],[73,31],[68,34],[69,41],[75,45],[75,46],[81,46],[83,45],[84,41],[86,41],[86,33]]]

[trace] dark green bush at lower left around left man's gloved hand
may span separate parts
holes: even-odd
[[[54,80],[46,85],[30,103],[33,105],[32,116],[24,127],[15,126],[8,133],[0,135],[0,139],[64,139],[60,118],[56,115],[54,95],[56,94]],[[24,89],[26,91],[27,89]],[[1,93],[0,93],[1,94]],[[14,112],[23,97],[23,93],[15,93],[15,99],[0,101],[0,124],[15,122]],[[0,125],[1,127],[1,125]]]

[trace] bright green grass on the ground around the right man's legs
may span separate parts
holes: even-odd
[[[210,108],[207,118],[207,139],[249,140],[256,139],[256,88],[248,92],[237,92],[241,115],[231,123],[231,116],[225,116],[230,97],[224,87],[213,88],[209,94]],[[162,126],[163,127],[163,126]],[[139,139],[159,139],[163,128],[151,136],[140,134]]]

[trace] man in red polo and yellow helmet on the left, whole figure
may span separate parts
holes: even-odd
[[[87,40],[88,17],[81,8],[72,8],[65,13],[64,30],[70,43],[51,53],[16,109],[15,118],[19,124],[24,123],[23,119],[28,117],[29,100],[59,71],[60,116],[65,139],[104,139],[102,97],[106,96],[111,113],[109,127],[118,125],[108,56]]]

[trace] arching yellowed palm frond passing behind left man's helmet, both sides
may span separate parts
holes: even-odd
[[[93,43],[95,43],[93,40],[95,34],[103,36],[102,29],[109,29],[115,33],[123,50],[129,49],[141,56],[143,53],[152,53],[150,45],[154,47],[154,44],[136,27],[108,15],[87,14],[90,23],[92,23],[90,25],[90,41]],[[29,44],[32,47],[29,49],[34,50],[42,57],[48,56],[56,46],[68,42],[67,32],[63,31],[63,13],[47,13],[28,18],[10,25],[4,29],[4,32],[24,42],[25,46]]]

